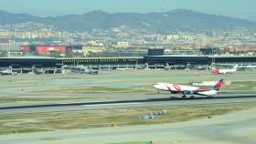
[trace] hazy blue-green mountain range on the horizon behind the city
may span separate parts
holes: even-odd
[[[248,20],[223,15],[208,15],[186,9],[177,9],[165,13],[105,13],[91,11],[84,15],[64,15],[39,17],[27,14],[11,14],[0,11],[0,25],[38,22],[57,27],[59,30],[91,31],[125,27],[153,32],[173,30],[219,30],[238,27],[251,28],[255,24]]]

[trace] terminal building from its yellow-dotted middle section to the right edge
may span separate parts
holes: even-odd
[[[63,65],[85,66],[210,66],[216,64],[255,65],[256,57],[209,57],[209,56],[147,56],[147,57],[94,57],[94,58],[61,58]]]

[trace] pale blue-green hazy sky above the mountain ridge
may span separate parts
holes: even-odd
[[[0,10],[30,15],[73,15],[92,10],[165,12],[179,8],[256,21],[256,0],[0,0]]]

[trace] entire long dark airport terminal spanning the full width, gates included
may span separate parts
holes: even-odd
[[[145,57],[2,57],[0,69],[11,68],[20,73],[43,69],[44,72],[60,72],[63,66],[85,66],[94,69],[116,68],[178,68],[208,67],[212,64],[256,65],[256,56],[145,56]],[[199,68],[198,68],[199,69]]]

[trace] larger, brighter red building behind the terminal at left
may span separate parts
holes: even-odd
[[[38,54],[50,54],[51,51],[65,53],[66,46],[36,46],[36,52]]]

